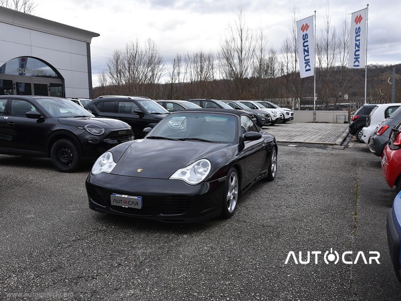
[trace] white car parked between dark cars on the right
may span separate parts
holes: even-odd
[[[362,129],[362,140],[366,144],[369,144],[369,139],[373,132],[375,132],[377,126],[381,124],[381,122],[389,117],[391,113],[397,110],[401,106],[398,104],[378,104],[376,108],[374,108],[366,119],[366,126]]]

